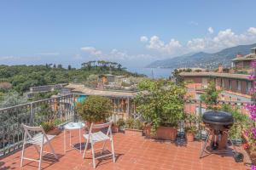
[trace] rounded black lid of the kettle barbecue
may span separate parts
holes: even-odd
[[[234,123],[234,118],[224,111],[207,111],[202,116],[202,121],[209,124],[230,125]]]

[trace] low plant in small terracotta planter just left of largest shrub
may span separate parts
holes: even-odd
[[[142,136],[143,135],[143,123],[138,119],[129,117],[125,121],[125,134],[133,135],[133,136],[134,135]]]

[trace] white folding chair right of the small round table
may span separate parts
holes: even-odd
[[[107,123],[103,123],[103,124],[91,123],[89,133],[84,134],[84,139],[86,139],[86,144],[85,144],[83,158],[85,157],[85,153],[87,151],[88,144],[90,143],[91,144],[91,152],[92,152],[92,162],[93,162],[94,168],[96,168],[95,160],[102,158],[102,157],[112,156],[113,162],[115,162],[115,156],[114,156],[114,150],[113,150],[113,135],[112,135],[111,125],[112,125],[112,122],[107,122]],[[102,129],[105,127],[106,128],[108,127],[108,131],[106,134],[102,133],[102,131],[92,133],[94,129],[99,130],[99,129]],[[102,152],[105,150],[107,140],[109,140],[111,143],[111,153],[107,154],[107,155],[102,155]],[[96,144],[97,142],[104,142],[102,148],[94,149],[94,144]],[[95,150],[102,150],[101,155],[95,156]]]

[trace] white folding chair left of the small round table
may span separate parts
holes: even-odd
[[[38,169],[40,170],[43,152],[46,152],[46,151],[44,151],[44,144],[49,144],[49,148],[52,151],[51,154],[53,154],[55,156],[55,159],[58,159],[58,156],[56,156],[56,154],[55,154],[54,148],[50,144],[50,140],[54,139],[55,135],[46,134],[44,132],[44,128],[41,126],[40,127],[29,127],[29,126],[22,124],[22,127],[24,128],[25,133],[24,133],[23,147],[22,147],[22,152],[21,152],[20,167],[23,166],[23,160],[38,161],[39,162]],[[31,132],[37,132],[38,134],[36,134],[32,137]],[[39,155],[38,160],[24,157],[26,144],[32,144],[34,146],[34,148],[37,150],[38,155]],[[37,145],[40,147],[40,150],[38,150]],[[49,153],[49,152],[46,152],[46,153]]]

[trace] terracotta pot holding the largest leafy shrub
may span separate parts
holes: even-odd
[[[177,136],[177,129],[175,127],[158,127],[156,130],[157,139],[166,139],[174,141]]]

